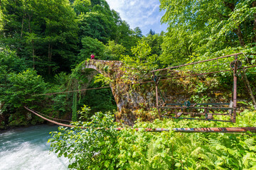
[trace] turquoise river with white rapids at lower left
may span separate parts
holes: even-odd
[[[0,170],[68,169],[67,158],[49,152],[49,132],[56,130],[53,125],[0,130]]]

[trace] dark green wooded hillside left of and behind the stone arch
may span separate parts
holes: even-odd
[[[18,125],[16,117],[24,112],[20,107],[23,105],[40,109],[43,106],[41,111],[52,117],[70,118],[72,110],[73,120],[77,119],[77,108],[85,101],[93,111],[116,108],[110,89],[93,91],[86,98],[84,91],[54,94],[46,96],[47,100],[28,94],[87,88],[91,73],[81,72],[80,65],[70,74],[75,64],[90,58],[92,52],[101,60],[119,60],[121,55],[130,54],[131,47],[142,36],[139,28],[135,35],[105,0],[2,0],[0,4],[0,102],[7,124],[11,115],[11,122],[15,121],[12,125]],[[26,69],[29,71],[23,72]],[[36,72],[48,82],[46,89]],[[24,84],[29,79],[31,82],[22,87],[18,82],[21,77]],[[102,86],[102,79],[97,77],[99,82],[91,87]],[[29,123],[26,116],[20,120]]]

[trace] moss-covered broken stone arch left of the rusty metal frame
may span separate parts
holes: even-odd
[[[122,62],[87,60],[82,65],[82,70],[84,69],[95,69],[111,80],[110,87],[119,111],[122,111],[122,109],[135,110],[140,107],[140,103],[154,106],[154,91],[151,91],[154,86],[151,84],[146,84],[144,88],[139,87],[139,85],[132,86],[131,84],[137,81],[127,79],[127,77],[124,78]],[[143,90],[145,88],[146,91]]]

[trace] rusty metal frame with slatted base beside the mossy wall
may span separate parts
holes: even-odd
[[[238,61],[238,55],[242,53],[237,53],[234,55],[227,55],[223,57],[217,57],[210,60],[204,60],[201,62],[209,62],[213,60],[218,60],[225,57],[235,57],[235,60],[230,63],[231,69],[224,70],[224,71],[218,71],[218,72],[233,72],[233,94],[232,94],[232,101],[230,103],[190,103],[189,101],[186,101],[185,103],[166,103],[164,96],[161,94],[161,91],[159,89],[159,81],[161,81],[160,77],[157,77],[155,72],[164,70],[164,69],[158,69],[151,71],[153,74],[153,80],[154,84],[156,86],[156,108],[159,113],[159,118],[178,118],[178,119],[190,119],[190,120],[211,120],[211,121],[222,121],[222,122],[233,122],[235,123],[236,120],[236,111],[237,111],[237,81],[238,81],[238,69],[242,66],[242,62]],[[178,67],[184,67],[191,64],[198,64],[201,62],[194,62],[190,64],[183,64],[176,67],[170,67],[166,69],[175,69]],[[199,75],[206,75],[206,74],[213,74],[218,72],[209,72],[209,73],[203,73],[203,74],[196,74],[196,76]],[[179,78],[186,78],[186,77],[179,77]],[[174,79],[177,79],[175,77]],[[162,100],[164,101],[163,104],[159,103],[159,94],[161,95]],[[205,107],[207,106],[207,107]],[[214,106],[214,107],[213,107]],[[173,109],[175,110],[175,116],[164,116],[161,115],[160,109]],[[203,109],[204,113],[195,113],[195,112],[186,112],[196,109]],[[179,110],[177,112],[177,110]],[[209,113],[209,110],[215,110],[215,111],[228,111],[228,113]],[[181,115],[205,115],[205,118],[181,118]],[[213,115],[229,115],[230,120],[215,120],[213,119]]]

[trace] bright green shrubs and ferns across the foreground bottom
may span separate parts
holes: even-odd
[[[82,111],[87,113],[87,108]],[[237,123],[191,120],[138,122],[134,128],[168,128],[169,132],[144,132],[117,127],[110,113],[95,113],[86,130],[59,128],[51,148],[70,159],[70,169],[255,169],[256,137],[223,133],[180,133],[172,128],[253,127],[255,111],[244,111]]]

